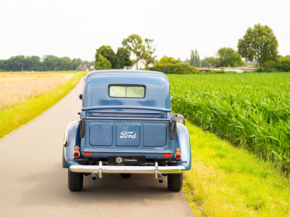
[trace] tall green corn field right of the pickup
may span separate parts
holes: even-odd
[[[168,78],[174,112],[290,171],[290,73]]]

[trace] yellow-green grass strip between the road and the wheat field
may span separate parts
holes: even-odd
[[[63,85],[23,103],[0,110],[0,139],[36,118],[62,99],[86,73],[78,73]]]

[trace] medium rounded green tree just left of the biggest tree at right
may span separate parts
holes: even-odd
[[[241,56],[232,48],[223,47],[218,50],[216,67],[236,67],[242,64]]]

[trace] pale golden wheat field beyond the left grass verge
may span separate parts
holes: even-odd
[[[0,109],[53,90],[74,75],[74,73],[0,73]]]

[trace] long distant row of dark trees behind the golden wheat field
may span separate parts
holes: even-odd
[[[7,60],[0,60],[1,71],[69,71],[76,70],[82,63],[80,58],[56,57],[53,55],[12,56]]]

